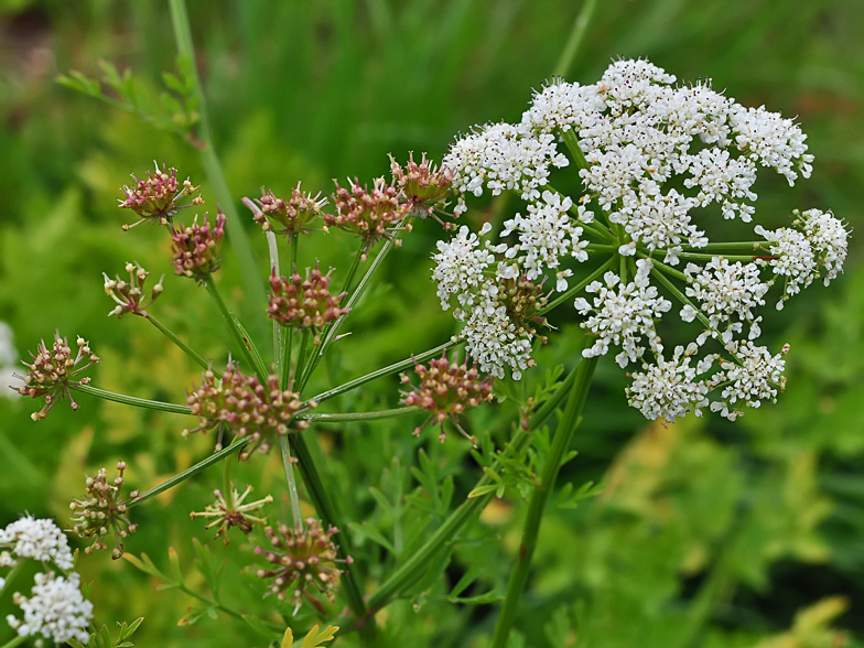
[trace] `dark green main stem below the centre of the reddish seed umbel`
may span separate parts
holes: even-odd
[[[303,433],[296,432],[291,434],[289,441],[291,442],[291,446],[294,450],[294,455],[298,458],[300,473],[303,475],[303,479],[306,484],[306,492],[309,493],[312,503],[315,505],[315,510],[317,511],[318,516],[321,516],[321,520],[323,522],[322,526],[325,529],[331,526],[339,529],[341,533],[338,536],[339,539],[336,542],[336,551],[339,559],[347,561],[350,557],[350,547],[348,544],[347,534],[348,527],[343,523],[342,516],[333,506],[333,501],[324,488],[324,482],[321,479],[321,475],[318,474],[317,468],[312,461],[312,455],[310,454],[309,446],[306,445],[306,441],[303,438]],[[368,638],[375,634],[375,619],[374,617],[370,619],[366,618],[366,603],[363,600],[363,590],[360,587],[360,580],[359,574],[357,573],[356,563],[354,561],[349,561],[346,563],[346,568],[347,569],[344,572],[343,582],[345,584],[344,592],[348,600],[348,607],[350,608],[355,618],[369,620],[368,625],[364,625],[360,628],[361,636]]]

